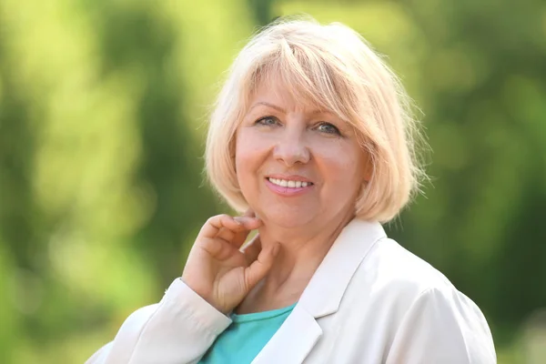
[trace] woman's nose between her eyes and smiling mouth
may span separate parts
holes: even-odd
[[[304,139],[302,131],[297,127],[287,127],[278,138],[273,156],[287,167],[308,163],[310,153]]]

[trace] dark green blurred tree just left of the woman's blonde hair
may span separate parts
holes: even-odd
[[[179,107],[187,105],[187,90],[169,65],[180,34],[147,6],[103,1],[88,10],[98,25],[104,75],[139,77],[135,122],[143,157],[134,178],[146,186],[154,209],[136,239],[167,285],[182,271],[182,242],[217,209],[210,190],[202,187],[201,143]]]

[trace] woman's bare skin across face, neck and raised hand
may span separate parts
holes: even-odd
[[[238,126],[235,162],[251,209],[207,221],[182,279],[224,313],[286,307],[354,217],[369,158],[349,124],[298,103],[273,82],[258,87]],[[270,187],[269,176],[303,177],[312,186],[286,195]],[[257,238],[241,251],[256,228]]]

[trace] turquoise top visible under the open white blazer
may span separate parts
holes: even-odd
[[[278,308],[271,311],[231,314],[233,322],[222,332],[199,360],[203,364],[249,364],[277,332],[292,308]]]

